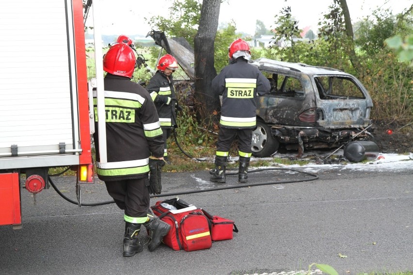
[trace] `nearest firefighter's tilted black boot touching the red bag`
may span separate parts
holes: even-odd
[[[149,220],[143,226],[149,231],[149,251],[154,251],[168,234],[171,226],[157,217],[151,209],[148,212]]]

